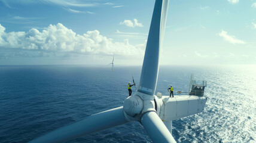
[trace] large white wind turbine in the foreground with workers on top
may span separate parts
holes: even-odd
[[[154,5],[141,79],[135,94],[126,98],[121,107],[93,114],[79,122],[53,130],[31,142],[65,142],[134,121],[144,126],[153,142],[176,142],[171,134],[172,120],[202,112],[206,98],[193,95],[169,98],[160,93],[154,95],[168,4],[169,0],[156,0]]]

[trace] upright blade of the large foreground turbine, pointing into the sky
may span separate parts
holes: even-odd
[[[163,41],[169,0],[156,0],[154,12],[148,33],[141,79],[138,91],[154,95],[159,72],[159,53]]]

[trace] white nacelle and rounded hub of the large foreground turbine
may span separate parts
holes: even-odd
[[[206,104],[206,97],[190,95],[169,96],[148,95],[136,91],[135,95],[124,100],[123,110],[129,121],[141,122],[141,117],[148,111],[154,111],[164,122],[178,120],[181,117],[202,113]]]

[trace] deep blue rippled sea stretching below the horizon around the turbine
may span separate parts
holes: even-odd
[[[177,142],[256,142],[256,66],[161,66],[157,91],[188,93],[190,74],[206,80],[203,113],[173,121]],[[0,142],[28,142],[123,105],[141,67],[1,66]],[[133,94],[134,92],[133,88]],[[151,142],[138,122],[69,142]]]

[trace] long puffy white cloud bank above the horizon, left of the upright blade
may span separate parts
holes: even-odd
[[[0,24],[0,50],[23,49],[25,51],[62,52],[76,54],[116,54],[143,55],[145,44],[130,45],[129,40],[113,42],[100,35],[98,30],[77,35],[62,24],[50,24],[39,32],[31,29],[28,32],[5,32]]]

